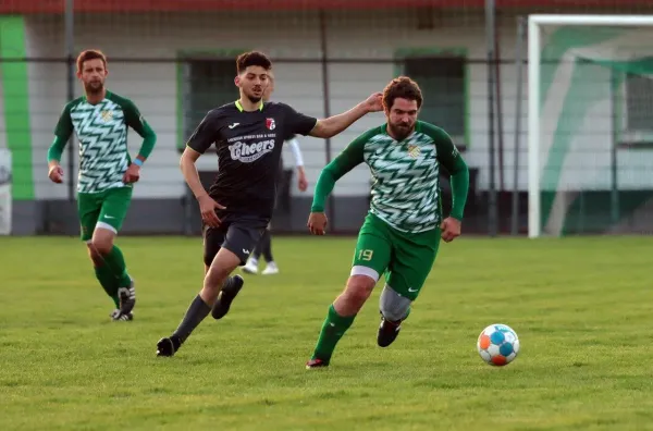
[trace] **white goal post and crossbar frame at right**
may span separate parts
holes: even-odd
[[[528,236],[540,237],[543,234],[542,222],[542,175],[544,172],[541,147],[542,111],[541,94],[542,49],[546,42],[544,26],[603,26],[603,27],[653,27],[653,15],[569,15],[533,14],[528,16]],[[651,50],[653,52],[653,49]],[[618,51],[615,51],[618,52]],[[544,59],[546,61],[546,59]],[[564,90],[564,89],[562,89]],[[560,90],[560,91],[562,91]],[[616,150],[615,150],[616,151]],[[547,216],[544,214],[544,216]]]

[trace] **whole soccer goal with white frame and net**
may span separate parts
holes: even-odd
[[[653,233],[653,15],[529,16],[528,188],[529,237]]]

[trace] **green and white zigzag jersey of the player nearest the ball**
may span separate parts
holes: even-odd
[[[387,134],[385,124],[366,132],[325,170],[337,178],[361,162],[368,164],[373,180],[370,212],[398,231],[417,233],[440,225],[440,168],[453,173],[458,160],[463,163],[444,130],[418,121],[402,141]]]

